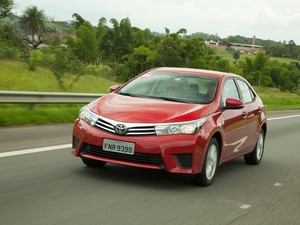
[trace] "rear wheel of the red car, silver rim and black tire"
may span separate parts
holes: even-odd
[[[246,164],[249,165],[258,165],[263,157],[265,147],[265,132],[263,129],[260,130],[256,145],[253,151],[247,155],[244,155],[244,160]]]

